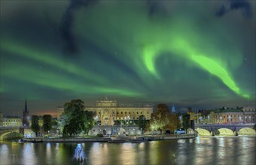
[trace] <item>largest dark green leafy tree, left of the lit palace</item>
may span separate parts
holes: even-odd
[[[64,113],[61,116],[59,126],[63,129],[63,136],[78,136],[79,133],[89,133],[93,128],[94,113],[84,111],[84,101],[72,100],[64,104]]]

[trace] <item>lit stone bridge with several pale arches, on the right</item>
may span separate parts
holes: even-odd
[[[250,124],[196,124],[195,130],[201,136],[234,136],[256,135],[253,129],[254,123]]]

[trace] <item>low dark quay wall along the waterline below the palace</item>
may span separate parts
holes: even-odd
[[[169,139],[192,139],[197,137],[197,135],[145,135],[138,136],[136,139],[139,140],[148,140],[148,141],[156,141],[156,140],[169,140]],[[129,136],[127,136],[129,139]],[[120,139],[118,139],[120,140]],[[113,138],[111,137],[95,137],[95,138],[23,138],[23,142],[113,142]],[[129,142],[129,141],[127,141]]]

